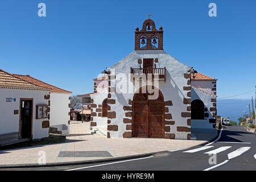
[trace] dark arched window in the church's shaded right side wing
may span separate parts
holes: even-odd
[[[204,102],[193,100],[191,102],[191,119],[204,119]]]

